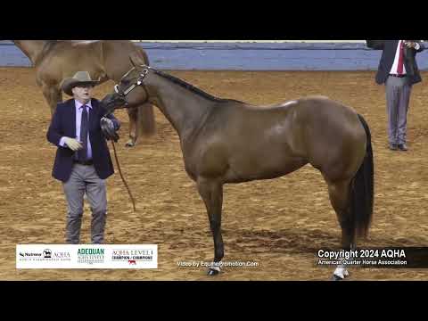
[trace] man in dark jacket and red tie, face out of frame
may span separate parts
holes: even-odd
[[[369,48],[383,50],[376,82],[386,85],[389,147],[407,151],[407,111],[412,86],[422,81],[416,53],[424,50],[417,40],[366,40]]]

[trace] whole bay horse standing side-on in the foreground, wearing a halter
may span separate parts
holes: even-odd
[[[211,96],[144,65],[129,70],[102,103],[112,111],[147,101],[177,130],[185,170],[206,205],[214,239],[210,276],[218,274],[224,257],[221,212],[227,183],[282,177],[311,164],[328,186],[342,249],[355,248],[357,237],[367,235],[374,203],[371,134],[350,107],[321,96],[253,106]],[[340,264],[333,279],[348,275]]]

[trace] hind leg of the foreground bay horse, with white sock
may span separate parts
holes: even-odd
[[[330,202],[336,212],[339,224],[342,227],[342,249],[350,251],[355,247],[355,226],[350,210],[350,179],[328,184]],[[341,280],[349,276],[348,270],[340,264],[333,273],[334,280]]]

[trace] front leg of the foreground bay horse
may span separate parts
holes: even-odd
[[[214,238],[214,265],[208,270],[209,276],[220,272],[221,259],[225,255],[225,245],[221,235],[221,210],[223,205],[223,184],[215,179],[198,178],[198,191],[205,203],[210,219],[210,229]]]

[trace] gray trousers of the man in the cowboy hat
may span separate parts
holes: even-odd
[[[74,164],[70,179],[62,186],[68,203],[66,243],[80,243],[85,193],[92,210],[91,241],[94,244],[103,243],[107,196],[105,181],[98,177],[95,167]]]

